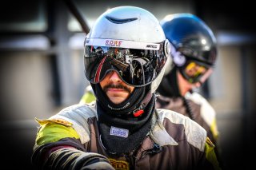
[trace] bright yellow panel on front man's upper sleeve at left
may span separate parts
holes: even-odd
[[[50,120],[41,121],[40,125],[41,127],[36,137],[37,145],[56,142],[66,137],[79,139],[78,133],[70,125],[63,125]]]

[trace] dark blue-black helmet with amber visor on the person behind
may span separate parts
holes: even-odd
[[[216,38],[213,32],[205,22],[193,14],[170,14],[160,23],[166,38],[170,41],[174,65],[186,80],[191,83],[199,81],[217,58]],[[198,69],[193,71],[194,68]],[[210,71],[212,70],[208,72]]]

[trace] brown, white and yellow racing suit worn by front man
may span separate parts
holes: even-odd
[[[170,110],[154,109],[142,144],[118,157],[101,142],[95,103],[73,105],[37,121],[32,163],[42,169],[218,169],[206,130]]]

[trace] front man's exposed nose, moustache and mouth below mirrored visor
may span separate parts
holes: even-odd
[[[127,85],[118,76],[118,73],[111,71],[106,74],[106,77],[100,82],[103,91],[114,104],[120,104],[125,101],[130,93],[134,91],[134,87]]]

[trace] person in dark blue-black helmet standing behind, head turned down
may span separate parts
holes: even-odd
[[[214,34],[193,14],[167,15],[161,25],[171,43],[173,62],[166,66],[165,76],[157,89],[160,96],[156,107],[190,117],[206,129],[207,136],[217,145],[215,111],[202,95],[193,91],[213,72],[217,57]]]

